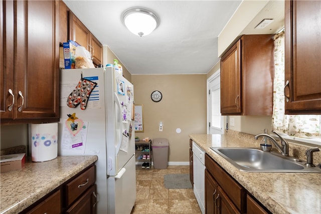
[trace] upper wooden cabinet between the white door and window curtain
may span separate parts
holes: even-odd
[[[273,35],[243,35],[221,58],[221,114],[272,115]]]

